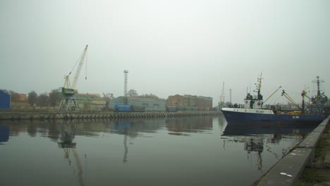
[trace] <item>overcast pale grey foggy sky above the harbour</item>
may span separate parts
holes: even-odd
[[[193,94],[243,103],[263,73],[266,99],[300,94],[317,75],[330,89],[330,1],[0,1],[0,89],[63,87],[85,45],[80,93],[128,89],[166,99]],[[71,75],[71,82],[73,82]],[[280,92],[277,94],[281,94]]]

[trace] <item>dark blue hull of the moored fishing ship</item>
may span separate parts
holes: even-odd
[[[290,124],[319,124],[326,118],[323,115],[287,115],[243,113],[236,111],[222,111],[227,123],[290,123]]]

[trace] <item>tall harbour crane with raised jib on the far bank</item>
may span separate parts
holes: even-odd
[[[78,82],[78,77],[80,75],[80,70],[82,68],[82,63],[84,63],[84,61],[85,61],[85,56],[87,54],[87,47],[88,47],[88,45],[85,46],[85,49],[84,49],[84,51],[82,51],[82,54],[80,56],[80,61],[79,61],[78,68],[75,73],[75,77],[73,79],[72,85],[70,83],[69,77],[70,77],[73,69],[71,70],[71,72],[68,75],[64,76],[65,82],[64,82],[64,85],[61,90],[61,101],[59,104],[59,108],[57,109],[57,112],[59,112],[61,110],[70,112],[70,109],[73,111],[75,111],[75,110],[78,111],[78,107],[77,107],[77,103],[75,101],[74,95],[77,94],[76,85]],[[77,65],[77,63],[75,63],[75,66],[76,65]],[[73,68],[75,68],[75,66],[73,66]],[[87,77],[85,77],[85,79],[87,79]],[[73,102],[73,106],[71,106],[72,102]],[[62,106],[62,104],[63,104],[63,106]],[[70,106],[71,106],[71,108],[69,108]]]

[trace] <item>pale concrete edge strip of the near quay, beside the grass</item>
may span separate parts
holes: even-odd
[[[257,185],[295,185],[305,166],[312,166],[315,147],[322,137],[322,133],[326,130],[328,122],[329,118],[326,118],[319,124],[305,140],[276,163]]]

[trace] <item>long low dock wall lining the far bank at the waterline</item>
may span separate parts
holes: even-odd
[[[216,111],[192,112],[145,112],[145,113],[0,113],[0,120],[55,120],[55,119],[88,119],[88,118],[163,118],[183,116],[211,116]]]

